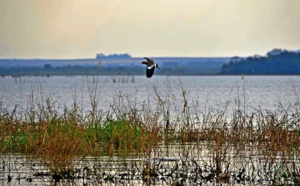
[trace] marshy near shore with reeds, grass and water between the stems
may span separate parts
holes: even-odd
[[[91,109],[83,113],[51,97],[33,93],[28,108],[7,110],[0,102],[0,154],[3,180],[11,181],[8,155],[25,154],[32,177],[53,181],[95,182],[141,180],[144,183],[267,183],[300,181],[300,100],[276,110],[246,110],[242,84],[222,109],[199,110],[183,88],[153,86],[155,98],[137,103],[122,93],[109,111],[98,108],[97,80],[89,85]],[[232,102],[233,100],[233,102]],[[153,107],[152,104],[155,104]],[[108,157],[80,166],[88,156]],[[119,158],[119,163],[107,161]],[[34,168],[35,158],[42,163]],[[106,158],[107,159],[107,158]],[[7,176],[6,176],[7,175]],[[6,178],[7,177],[7,178]],[[27,179],[18,177],[19,179]],[[122,183],[122,182],[120,182]]]

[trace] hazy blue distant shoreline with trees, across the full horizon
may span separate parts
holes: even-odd
[[[300,75],[300,50],[273,49],[265,56],[249,57],[153,59],[161,67],[156,75]],[[99,53],[93,59],[0,59],[0,76],[144,75],[142,60],[127,53]]]

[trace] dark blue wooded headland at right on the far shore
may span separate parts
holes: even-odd
[[[219,74],[300,75],[300,50],[273,49],[266,56],[232,57]]]

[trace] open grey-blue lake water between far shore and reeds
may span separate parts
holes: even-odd
[[[247,110],[252,107],[275,109],[279,102],[287,107],[296,103],[296,97],[290,81],[295,87],[300,85],[300,76],[180,76],[183,88],[187,90],[187,98],[198,100],[200,109],[207,106],[213,109],[222,108],[230,98],[234,102],[239,95],[241,102],[246,102]],[[74,100],[87,111],[90,109],[89,90],[93,90],[95,76],[50,76],[50,77],[2,77],[0,78],[0,95],[2,106],[10,110],[17,104],[18,108],[29,106],[30,92],[35,102],[41,100],[41,92],[67,107]],[[128,96],[131,101],[142,102],[156,99],[153,86],[158,88],[161,95],[166,91],[166,82],[171,84],[172,93],[180,96],[181,89],[177,76],[99,76],[96,96],[99,98],[98,108],[104,111],[118,95]],[[238,87],[238,88],[237,88]],[[243,92],[243,90],[245,90]],[[245,94],[244,94],[245,93]],[[243,99],[245,95],[245,99]]]

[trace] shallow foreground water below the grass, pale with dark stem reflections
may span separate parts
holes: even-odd
[[[292,183],[290,178],[280,178],[286,173],[283,164],[290,163],[296,168],[300,164],[298,157],[286,161],[278,154],[269,159],[272,157],[270,154],[261,153],[251,145],[244,148],[229,145],[226,147],[225,156],[219,159],[221,173],[219,178],[216,178],[216,153],[209,144],[173,144],[167,149],[166,146],[161,146],[159,151],[153,151],[150,155],[145,153],[111,157],[75,157],[71,165],[74,168],[72,177],[59,180],[55,180],[49,171],[50,163],[47,164],[42,158],[27,158],[24,154],[2,154],[0,184],[173,185],[176,182],[180,183],[182,179],[186,184],[211,185],[272,184],[274,180],[277,183]],[[150,168],[150,182],[145,180],[147,166]]]

